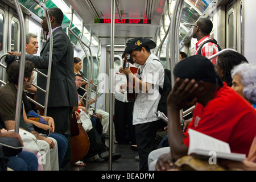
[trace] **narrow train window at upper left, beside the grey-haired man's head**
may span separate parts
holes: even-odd
[[[19,51],[19,23],[13,17],[11,21],[11,51]]]

